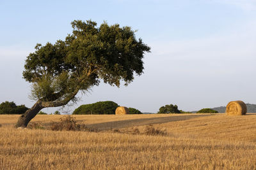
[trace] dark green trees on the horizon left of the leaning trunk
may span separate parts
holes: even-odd
[[[24,104],[17,106],[13,101],[12,102],[3,102],[0,104],[0,115],[3,114],[23,114],[29,108],[27,108]]]

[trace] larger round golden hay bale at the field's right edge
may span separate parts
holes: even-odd
[[[245,115],[246,104],[243,101],[230,101],[226,107],[227,115]]]

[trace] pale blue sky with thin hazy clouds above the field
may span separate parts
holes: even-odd
[[[256,0],[0,1],[0,103],[31,107],[31,84],[22,78],[36,43],[65,39],[73,20],[120,24],[151,47],[144,74],[127,87],[100,83],[76,104],[42,111],[72,113],[81,104],[114,101],[156,113],[256,103]]]

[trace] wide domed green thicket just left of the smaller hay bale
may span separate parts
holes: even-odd
[[[72,115],[111,115],[115,114],[117,107],[118,104],[113,101],[99,101],[79,106]]]

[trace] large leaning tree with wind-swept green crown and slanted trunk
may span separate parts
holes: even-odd
[[[32,83],[31,98],[36,103],[22,114],[15,127],[26,127],[38,111],[76,101],[80,90],[99,85],[131,83],[134,74],[143,73],[143,56],[150,47],[136,39],[131,27],[97,27],[91,20],[74,20],[72,34],[65,41],[37,44],[26,59],[23,78]]]

